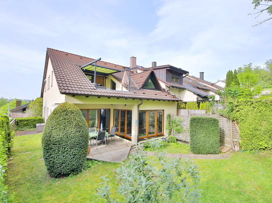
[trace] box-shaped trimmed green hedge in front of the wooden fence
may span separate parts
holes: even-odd
[[[216,118],[190,118],[190,151],[194,154],[220,153],[219,121]]]

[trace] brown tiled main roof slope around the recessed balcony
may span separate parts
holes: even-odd
[[[179,101],[176,96],[162,91],[136,90],[137,88],[130,92],[99,89],[95,87],[93,83],[91,83],[91,81],[80,68],[81,66],[93,61],[94,59],[92,58],[48,48],[47,60],[48,59],[50,59],[52,63],[53,71],[61,94]],[[48,62],[46,61],[46,68],[47,63]],[[118,70],[126,69],[124,66],[108,63],[105,61],[98,61],[97,65]],[[44,80],[45,79],[46,78],[44,73]],[[135,87],[136,86],[137,85],[135,85]],[[43,96],[43,89],[44,84],[41,96]]]

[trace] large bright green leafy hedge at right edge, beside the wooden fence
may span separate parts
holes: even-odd
[[[271,100],[240,100],[234,112],[244,150],[272,149]]]

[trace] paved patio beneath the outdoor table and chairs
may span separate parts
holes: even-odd
[[[96,141],[91,146],[90,154],[87,156],[87,159],[100,160],[105,162],[122,162],[127,159],[130,148],[132,144],[118,136],[111,140],[109,139],[109,143],[107,147],[105,147],[105,142],[101,144],[100,142],[97,144],[96,149]]]

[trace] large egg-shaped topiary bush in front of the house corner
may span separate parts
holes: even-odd
[[[57,178],[82,171],[88,152],[89,131],[78,107],[62,103],[47,119],[42,138],[48,173]]]

